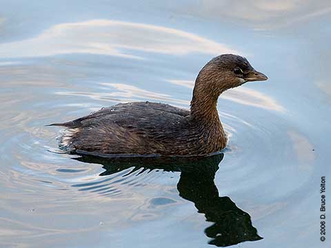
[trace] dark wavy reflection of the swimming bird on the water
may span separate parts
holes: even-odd
[[[205,235],[212,238],[210,245],[227,247],[244,241],[261,240],[257,229],[252,226],[250,215],[239,209],[228,196],[219,196],[214,177],[223,154],[208,157],[134,157],[101,158],[81,156],[74,158],[86,163],[99,163],[108,176],[132,168],[132,172],[142,169],[162,169],[165,172],[181,172],[177,189],[179,196],[190,200],[198,212],[205,215],[206,221],[213,223],[205,229]]]

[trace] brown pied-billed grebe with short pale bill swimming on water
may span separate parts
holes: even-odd
[[[217,99],[232,87],[267,76],[247,59],[223,54],[209,61],[195,81],[190,110],[163,103],[120,103],[67,123],[60,148],[70,154],[99,156],[194,156],[226,145]]]

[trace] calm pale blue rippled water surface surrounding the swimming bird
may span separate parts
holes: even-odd
[[[326,247],[331,3],[0,3],[0,247]],[[269,80],[219,99],[223,154],[55,153],[60,130],[44,125],[119,102],[188,107],[197,72],[225,52]]]

